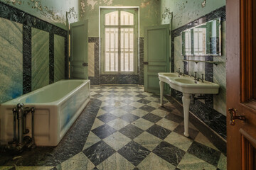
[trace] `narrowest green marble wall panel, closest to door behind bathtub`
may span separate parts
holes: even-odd
[[[65,79],[65,38],[54,35],[54,81]]]

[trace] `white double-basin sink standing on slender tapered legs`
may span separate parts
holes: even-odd
[[[189,137],[188,113],[191,103],[191,94],[218,94],[220,85],[209,81],[195,81],[188,76],[179,76],[177,73],[159,73],[160,102],[163,106],[164,83],[169,84],[172,89],[183,93],[184,135]]]

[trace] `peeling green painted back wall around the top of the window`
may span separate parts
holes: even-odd
[[[160,0],[81,0],[79,19],[89,20],[89,37],[99,37],[99,6],[139,6],[139,36],[145,26],[160,24]]]

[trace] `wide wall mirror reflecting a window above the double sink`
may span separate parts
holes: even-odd
[[[220,18],[181,32],[181,55],[221,55]]]

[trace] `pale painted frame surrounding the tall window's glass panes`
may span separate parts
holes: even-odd
[[[139,63],[139,6],[100,6],[99,7],[99,35],[100,35],[100,74],[138,74],[138,63]],[[121,65],[119,62],[119,69],[117,72],[105,72],[105,57],[103,46],[105,43],[104,40],[104,30],[105,26],[102,24],[105,19],[102,20],[102,16],[105,16],[106,13],[112,11],[127,11],[131,13],[131,10],[137,10],[137,13],[134,17],[134,71],[133,72],[121,72]],[[127,26],[129,28],[130,26]],[[123,28],[123,27],[122,27]],[[120,60],[120,56],[119,56]]]

